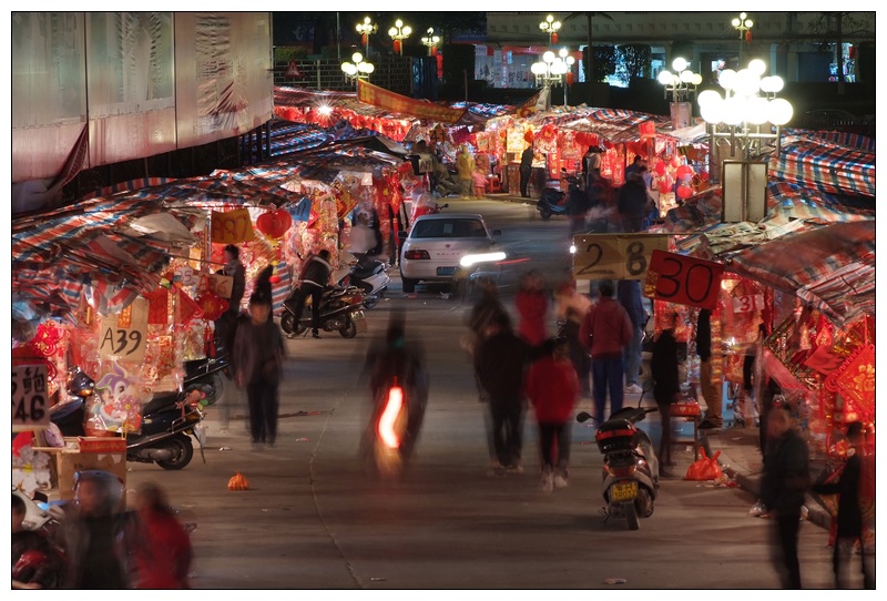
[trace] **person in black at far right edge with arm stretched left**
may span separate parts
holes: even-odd
[[[859,559],[863,570],[863,587],[875,589],[875,567],[871,558],[866,553],[863,540],[863,509],[859,502],[860,482],[863,476],[863,458],[865,457],[865,430],[860,421],[847,425],[847,441],[850,450],[847,461],[840,471],[840,477],[835,482],[817,482],[813,485],[814,492],[820,495],[838,495],[837,536],[832,554],[832,569],[835,571],[835,588],[846,589],[847,581],[843,577],[844,566],[854,554],[854,546],[859,543]]]

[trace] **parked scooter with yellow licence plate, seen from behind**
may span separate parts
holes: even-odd
[[[644,388],[646,391],[646,387]],[[644,395],[641,394],[641,400]],[[629,530],[638,530],[639,518],[649,518],[659,489],[659,459],[653,442],[635,427],[655,407],[623,407],[598,428],[594,440],[603,454],[604,522],[612,517],[625,518]],[[592,419],[582,411],[577,421]]]

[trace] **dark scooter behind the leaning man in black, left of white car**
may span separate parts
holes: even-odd
[[[288,299],[287,299],[288,300]],[[320,327],[326,332],[338,332],[343,338],[354,338],[365,325],[364,293],[357,286],[330,286],[320,298]],[[359,324],[359,326],[358,326]],[[299,318],[293,314],[289,303],[284,303],[281,327],[286,334],[304,334],[312,326],[312,297],[305,299]]]

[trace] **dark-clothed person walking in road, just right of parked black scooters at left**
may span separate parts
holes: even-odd
[[[277,438],[278,388],[286,356],[279,327],[268,322],[271,302],[259,293],[249,297],[249,319],[234,340],[235,384],[246,389],[253,445],[274,446]]]

